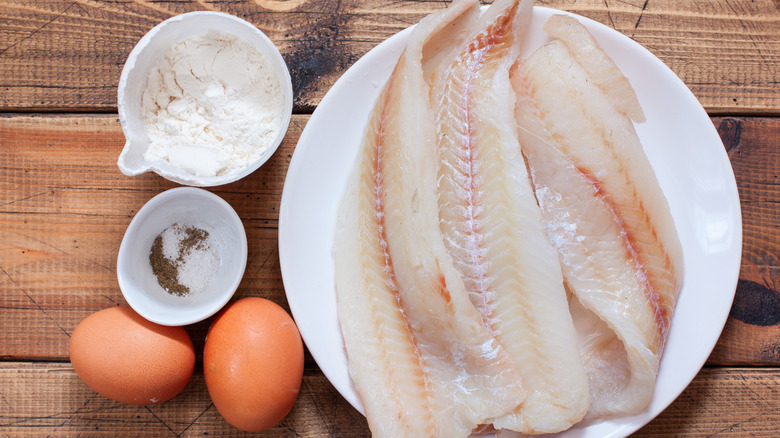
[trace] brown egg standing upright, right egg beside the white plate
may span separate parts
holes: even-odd
[[[206,387],[233,426],[266,430],[290,412],[303,377],[303,343],[287,312],[263,298],[229,304],[203,349]]]

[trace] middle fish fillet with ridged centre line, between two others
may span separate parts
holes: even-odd
[[[438,202],[447,250],[486,327],[519,366],[527,397],[496,428],[559,432],[588,409],[557,252],[520,153],[509,69],[531,1],[492,4],[436,67]]]

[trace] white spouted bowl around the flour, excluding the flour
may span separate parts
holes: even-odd
[[[144,159],[144,153],[149,147],[149,137],[143,121],[142,96],[149,72],[173,46],[193,36],[206,34],[209,30],[233,34],[252,44],[269,60],[279,78],[284,112],[277,137],[255,162],[224,175],[201,177],[181,170],[165,160]],[[213,187],[237,181],[262,166],[279,147],[290,124],[292,105],[292,81],[287,64],[274,43],[252,23],[221,12],[199,11],[171,17],[155,26],[138,41],[119,77],[117,107],[126,143],[117,165],[127,176],[152,171],[170,181],[197,187]]]

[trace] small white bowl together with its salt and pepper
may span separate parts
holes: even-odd
[[[207,190],[177,187],[150,199],[130,221],[116,274],[139,315],[157,324],[188,325],[230,300],[246,260],[246,232],[233,207]],[[153,265],[163,270],[155,273]]]

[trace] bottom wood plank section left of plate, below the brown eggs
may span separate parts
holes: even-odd
[[[320,372],[306,370],[293,410],[268,437],[368,436],[363,416]],[[228,424],[197,368],[184,390],[159,405],[125,405],[87,387],[69,363],[0,362],[4,436],[250,436]]]

